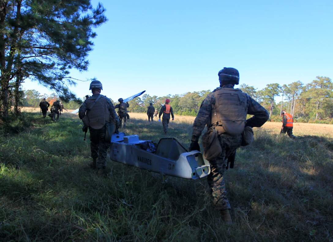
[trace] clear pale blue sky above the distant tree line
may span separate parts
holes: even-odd
[[[333,78],[333,1],[92,1],[109,21],[95,29],[89,71],[102,94],[118,100],[213,90],[217,73],[234,67],[240,84],[304,84]],[[77,82],[78,97],[91,94]],[[29,80],[25,90],[49,91]]]

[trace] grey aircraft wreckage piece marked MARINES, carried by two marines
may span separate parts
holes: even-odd
[[[200,151],[187,150],[175,138],[161,138],[156,145],[138,135],[113,134],[110,159],[162,175],[198,179],[210,173],[209,162]]]

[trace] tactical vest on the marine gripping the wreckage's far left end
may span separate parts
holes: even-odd
[[[94,129],[101,129],[106,122],[111,122],[106,97],[100,96],[98,100],[95,97],[90,97],[85,101],[88,107],[89,126]],[[97,102],[95,102],[96,100]]]

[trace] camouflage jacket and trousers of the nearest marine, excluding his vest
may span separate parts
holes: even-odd
[[[193,123],[192,141],[198,141],[202,130],[205,125],[207,128],[211,127],[212,108],[215,105],[215,91],[221,88],[233,88],[233,85],[228,84],[222,87],[218,87],[213,92],[209,93],[203,100],[200,106],[197,117]],[[253,100],[246,94],[247,102],[247,114],[254,115],[252,118],[246,120],[245,126],[260,127],[269,118],[269,114],[260,104]],[[216,127],[216,126],[214,126]],[[222,148],[220,156],[214,160],[209,160],[211,172],[207,177],[209,187],[211,188],[213,203],[219,210],[230,209],[230,204],[227,199],[225,183],[224,183],[224,171],[225,171],[225,159],[232,155],[238,147],[241,145],[241,134],[230,135],[228,133],[219,133],[218,139]]]

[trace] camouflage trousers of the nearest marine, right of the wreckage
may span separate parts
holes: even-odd
[[[230,209],[224,183],[225,159],[233,154],[242,142],[241,135],[231,136],[220,134],[219,141],[222,153],[214,160],[209,160],[210,174],[207,176],[208,185],[211,189],[213,203],[217,209]]]

